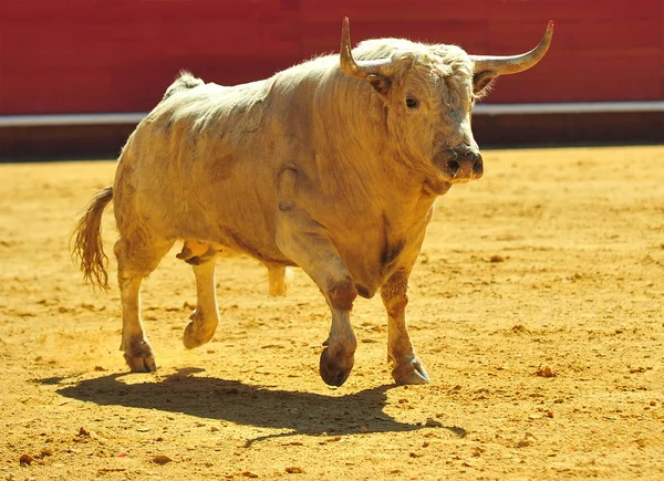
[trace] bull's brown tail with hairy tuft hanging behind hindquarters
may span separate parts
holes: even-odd
[[[93,286],[108,290],[108,257],[102,242],[102,213],[113,199],[113,187],[100,190],[90,200],[72,234],[72,258],[83,271],[83,279]]]

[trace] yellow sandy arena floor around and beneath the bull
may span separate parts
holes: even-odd
[[[485,166],[438,200],[411,280],[432,384],[393,384],[373,299],[330,388],[328,307],[299,270],[273,300],[258,262],[220,260],[221,324],[186,351],[179,245],[143,289],[159,370],[127,373],[117,287],[83,285],[68,251],[114,163],[1,165],[0,479],[664,479],[664,147]]]

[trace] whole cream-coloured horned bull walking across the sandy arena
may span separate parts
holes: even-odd
[[[387,353],[398,384],[429,381],[408,336],[408,278],[436,198],[479,179],[473,106],[498,75],[537,64],[543,39],[513,56],[469,55],[455,45],[375,39],[236,86],[185,73],[122,149],[115,181],[93,197],[73,236],[85,280],[108,289],[101,217],[113,200],[120,239],[122,345],[133,372],[157,368],[139,313],[143,279],[175,242],[193,265],[197,305],[187,348],[219,322],[218,257],[262,262],[270,293],[301,268],[323,294],[332,325],[320,375],[341,386],[357,345],[351,310],[380,291]]]

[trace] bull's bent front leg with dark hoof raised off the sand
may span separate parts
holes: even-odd
[[[332,311],[320,374],[326,384],[341,386],[355,363],[357,339],[351,326],[351,309],[357,290],[321,224],[297,209],[281,211],[277,224],[277,245],[315,282]]]

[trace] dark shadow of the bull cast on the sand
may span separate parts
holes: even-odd
[[[388,389],[383,385],[343,396],[270,389],[212,377],[197,377],[203,369],[181,369],[155,383],[125,384],[126,374],[111,374],[84,379],[58,389],[64,397],[100,406],[125,406],[181,412],[206,419],[231,421],[257,428],[289,429],[290,432],[262,436],[252,442],[292,435],[347,435],[360,432],[414,431],[421,424],[400,422],[383,412]],[[41,384],[60,384],[63,379],[42,379]],[[443,427],[459,437],[459,427]],[[364,429],[363,429],[364,430]]]

